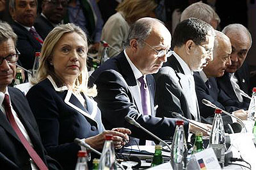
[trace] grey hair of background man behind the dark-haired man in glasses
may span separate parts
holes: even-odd
[[[180,22],[188,18],[198,18],[211,24],[212,20],[216,20],[220,24],[220,17],[208,4],[198,2],[189,5],[181,14]]]

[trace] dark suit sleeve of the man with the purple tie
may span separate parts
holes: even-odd
[[[106,129],[113,127],[127,127],[132,136],[140,139],[153,139],[145,132],[128,124],[124,117],[129,115],[143,127],[162,139],[169,139],[175,131],[175,119],[143,116],[138,113],[131,91],[120,73],[107,70],[102,72],[95,81],[98,96],[95,100],[102,112],[102,122]],[[185,125],[188,131],[188,123]]]

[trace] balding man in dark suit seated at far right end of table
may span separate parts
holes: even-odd
[[[222,89],[231,99],[243,102],[249,106],[250,99],[241,96],[236,89],[243,90],[246,94],[251,94],[249,71],[244,60],[252,46],[252,36],[248,29],[241,24],[227,25],[222,31],[228,36],[232,45],[230,55],[231,65],[223,76],[217,78],[218,87]]]

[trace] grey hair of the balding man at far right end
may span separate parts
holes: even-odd
[[[244,27],[244,25],[242,24],[229,24],[227,25],[221,32],[223,32],[224,34],[227,34],[228,32],[244,32],[248,35],[248,38],[250,39],[250,48],[252,46],[252,35],[251,33],[248,31],[248,29],[246,27]]]

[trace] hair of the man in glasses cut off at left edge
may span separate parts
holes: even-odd
[[[0,21],[0,44],[10,38],[13,39],[13,43],[16,45],[17,35],[13,32],[12,27],[6,22]]]

